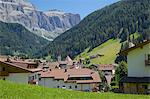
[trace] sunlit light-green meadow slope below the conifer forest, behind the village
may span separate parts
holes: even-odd
[[[96,55],[96,54],[102,54],[104,55],[103,57],[98,57],[91,59],[91,64],[112,64],[114,63],[116,59],[116,54],[120,51],[121,48],[121,43],[120,40],[113,40],[110,39],[103,43],[102,45],[94,48],[92,51],[88,52],[88,49],[86,49],[83,53],[78,55],[76,59],[81,58],[88,58],[91,55]]]

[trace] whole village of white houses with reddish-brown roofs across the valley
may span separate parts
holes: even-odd
[[[121,51],[127,56],[128,74],[119,81],[117,92],[129,94],[150,94],[150,40]],[[113,86],[116,64],[97,64],[87,68],[82,60],[65,60],[59,57],[55,62],[42,59],[20,59],[0,56],[0,79],[48,88],[62,88],[84,92],[107,92]],[[102,78],[99,71],[103,72]]]

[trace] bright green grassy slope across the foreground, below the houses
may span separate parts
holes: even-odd
[[[0,99],[149,99],[148,95],[87,93],[14,84],[0,80]]]

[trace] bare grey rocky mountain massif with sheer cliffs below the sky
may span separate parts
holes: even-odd
[[[47,12],[38,11],[27,0],[0,0],[0,20],[20,23],[36,35],[53,40],[78,24],[80,15],[55,9]]]

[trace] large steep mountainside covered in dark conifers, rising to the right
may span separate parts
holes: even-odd
[[[74,58],[85,49],[91,51],[109,39],[118,38],[123,42],[135,32],[142,35],[141,39],[150,38],[150,0],[122,0],[97,10],[35,56],[49,54],[56,58],[70,55]]]

